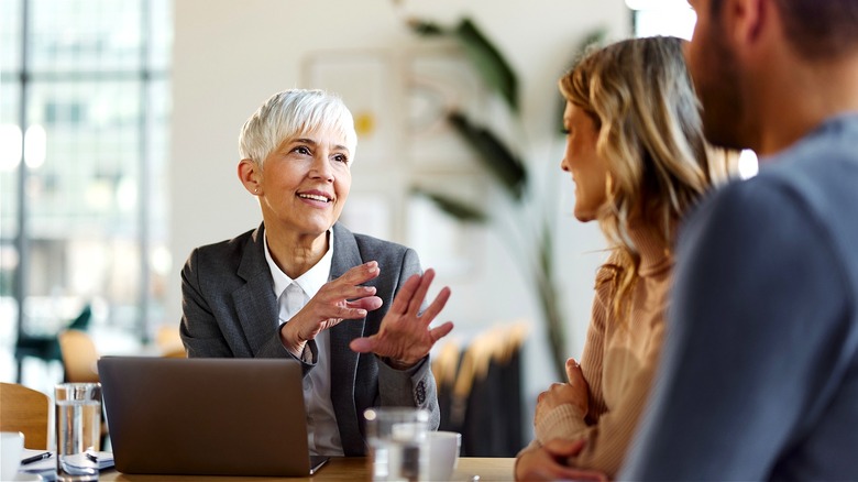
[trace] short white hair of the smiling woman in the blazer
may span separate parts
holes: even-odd
[[[268,98],[244,122],[239,136],[241,158],[262,166],[265,158],[289,138],[320,130],[332,130],[345,139],[354,160],[358,133],[354,119],[342,99],[318,89],[289,89]]]

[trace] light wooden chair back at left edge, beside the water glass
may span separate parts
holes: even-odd
[[[47,449],[51,402],[42,392],[15,383],[0,383],[0,431],[24,434],[24,447]]]

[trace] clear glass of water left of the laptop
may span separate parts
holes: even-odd
[[[101,384],[61,383],[54,388],[54,406],[57,480],[97,481]]]

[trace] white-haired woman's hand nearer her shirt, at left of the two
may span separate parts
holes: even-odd
[[[369,311],[381,308],[382,298],[375,296],[375,287],[361,286],[377,277],[378,273],[378,263],[370,261],[326,283],[289,322],[280,327],[283,346],[300,357],[307,341],[316,338],[321,330],[344,319],[364,318]]]

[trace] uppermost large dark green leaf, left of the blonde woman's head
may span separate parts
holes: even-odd
[[[497,90],[509,108],[517,113],[518,78],[506,58],[470,19],[463,19],[453,30],[453,34],[476,67],[483,81]]]

